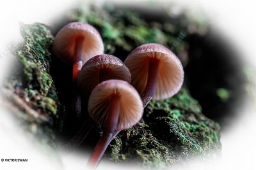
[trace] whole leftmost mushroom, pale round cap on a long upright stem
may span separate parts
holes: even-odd
[[[80,117],[80,97],[76,87],[77,74],[87,60],[104,52],[100,34],[90,24],[71,22],[56,35],[53,50],[60,60],[67,64],[73,64],[72,112],[76,117]]]

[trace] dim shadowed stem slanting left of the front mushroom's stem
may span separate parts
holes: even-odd
[[[65,152],[70,153],[76,149],[84,141],[94,124],[92,118],[88,117],[76,135],[64,146]]]

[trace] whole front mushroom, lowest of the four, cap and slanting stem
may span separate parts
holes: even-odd
[[[127,81],[107,80],[92,90],[88,112],[93,120],[105,127],[88,160],[88,166],[94,169],[116,132],[139,122],[143,115],[143,104],[136,89]]]

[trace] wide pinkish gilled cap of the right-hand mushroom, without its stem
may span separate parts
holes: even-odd
[[[179,92],[184,80],[184,71],[176,55],[163,45],[148,43],[135,48],[125,59],[129,68],[131,84],[141,95],[148,79],[148,63],[150,58],[159,60],[157,87],[153,99],[163,100]]]

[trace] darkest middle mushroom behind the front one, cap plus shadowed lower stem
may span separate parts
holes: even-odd
[[[77,86],[84,95],[90,96],[93,88],[104,80],[117,79],[131,82],[131,73],[122,60],[113,55],[101,54],[92,57],[82,67],[78,77]],[[88,117],[75,136],[65,145],[66,152],[74,150],[83,142],[94,125]]]

